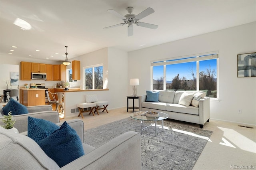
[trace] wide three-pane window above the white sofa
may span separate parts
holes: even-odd
[[[216,98],[217,59],[218,52],[213,52],[154,61],[151,63],[152,89],[200,90],[206,92],[206,96]]]

